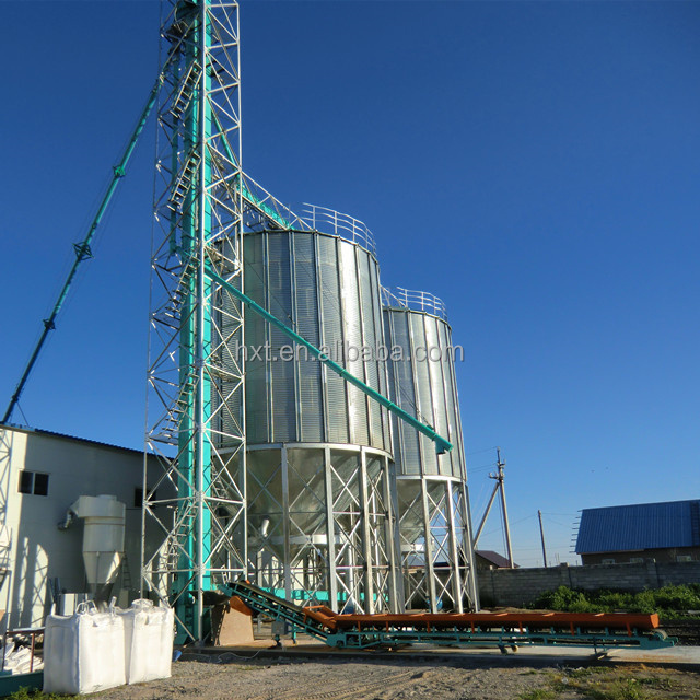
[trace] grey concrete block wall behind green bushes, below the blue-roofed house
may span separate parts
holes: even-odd
[[[665,585],[700,583],[700,561],[538,569],[490,569],[477,572],[481,605],[522,606],[545,591],[569,586],[581,591],[611,588],[637,593]]]

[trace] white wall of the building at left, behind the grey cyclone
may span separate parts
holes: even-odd
[[[47,495],[19,492],[20,471],[49,475]],[[83,524],[57,525],[80,495],[113,494],[126,504],[126,555],[131,587],[139,586],[142,453],[22,429],[0,428],[0,515],[8,574],[0,587],[7,610],[0,629],[43,625],[50,609],[49,580],[61,590],[86,592]],[[122,580],[124,581],[124,576]]]

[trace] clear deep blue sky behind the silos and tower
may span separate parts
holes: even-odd
[[[3,407],[156,74],[159,13],[2,3]],[[698,498],[700,3],[241,18],[245,170],[361,219],[385,284],[447,304],[475,520],[494,445],[522,564],[538,509],[563,560],[580,509]],[[26,389],[31,425],[142,446],[153,135]],[[495,517],[486,533],[503,551]]]

